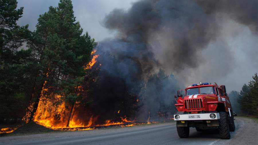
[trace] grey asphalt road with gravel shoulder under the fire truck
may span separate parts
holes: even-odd
[[[76,132],[46,133],[27,136],[5,136],[1,144],[258,144],[258,123],[235,117],[236,131],[230,140],[222,140],[218,131],[196,132],[190,128],[189,138],[179,138],[175,122],[126,128],[108,128]]]

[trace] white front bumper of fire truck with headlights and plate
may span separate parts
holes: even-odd
[[[215,118],[211,118],[210,114],[215,114]],[[176,116],[179,115],[179,119]],[[174,120],[215,120],[220,119],[220,113],[199,113],[199,114],[176,114]]]

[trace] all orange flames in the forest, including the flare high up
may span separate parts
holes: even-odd
[[[95,55],[95,52],[96,50],[91,52],[92,59],[86,65],[85,69],[91,69],[96,63],[96,58],[99,55]],[[97,126],[111,125],[122,127],[134,126],[133,121],[128,120],[126,116],[121,117],[120,121],[108,119],[102,124],[97,124],[96,122],[99,122],[99,116],[93,116],[87,113],[85,107],[80,106],[80,102],[70,105],[62,100],[61,95],[52,93],[51,95],[44,96],[44,91],[48,91],[48,89],[45,89],[46,83],[45,81],[42,87],[38,108],[34,114],[34,121],[42,126],[54,130],[92,130]],[[77,89],[83,91],[81,86],[77,87]],[[79,110],[84,110],[84,112],[80,113]],[[118,110],[118,113],[120,113],[120,110]]]

